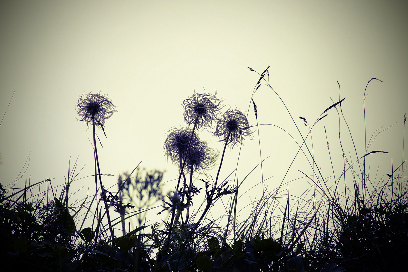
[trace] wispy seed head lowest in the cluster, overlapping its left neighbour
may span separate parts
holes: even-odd
[[[200,142],[200,145],[190,147],[187,155],[186,167],[193,172],[198,171],[203,174],[206,170],[211,169],[218,158],[218,152],[207,146],[205,141]]]

